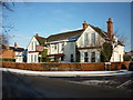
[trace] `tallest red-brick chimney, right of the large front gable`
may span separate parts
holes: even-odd
[[[113,22],[112,22],[112,19],[109,18],[109,20],[106,21],[106,23],[108,23],[108,37],[110,39],[112,39],[113,38]]]

